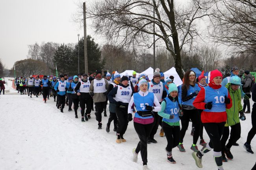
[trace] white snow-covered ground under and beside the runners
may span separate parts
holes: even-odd
[[[98,130],[94,112],[92,119],[81,122],[81,115],[75,119],[74,112],[57,110],[53,98],[43,103],[42,96],[36,98],[11,91],[0,95],[0,170],[141,170],[141,156],[132,162],[132,149],[139,138],[133,122],[129,122],[124,138],[126,143],[117,144],[113,132],[106,133],[108,117],[103,117],[103,129]],[[252,102],[251,102],[252,104]],[[109,116],[109,111],[107,110]],[[251,128],[250,114],[241,122],[242,134],[233,146],[234,160],[223,163],[225,170],[250,170],[256,161],[256,154],[248,154],[242,147]],[[191,124],[184,139],[186,152],[173,149],[176,164],[167,162],[165,137],[155,136],[157,144],[148,144],[148,167],[150,170],[197,170],[191,156]],[[204,138],[209,138],[204,131]],[[198,144],[198,147],[201,146]],[[252,141],[256,152],[256,139]],[[212,152],[203,157],[202,170],[216,170]]]

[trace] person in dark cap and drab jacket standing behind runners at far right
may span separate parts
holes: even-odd
[[[245,71],[245,79],[242,80],[243,84],[243,92],[245,92],[245,97],[243,99],[243,112],[245,112],[246,106],[247,111],[245,113],[250,113],[250,91],[252,88],[252,85],[254,84],[253,77],[250,74],[250,71]]]

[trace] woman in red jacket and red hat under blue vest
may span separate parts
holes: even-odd
[[[209,143],[200,151],[192,153],[198,168],[202,168],[202,156],[213,149],[218,170],[223,170],[221,136],[227,119],[226,108],[232,107],[232,100],[227,88],[221,86],[222,78],[221,72],[217,69],[211,71],[210,83],[199,91],[193,102],[195,108],[203,110],[201,120],[210,137]]]

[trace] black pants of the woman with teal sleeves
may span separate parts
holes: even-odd
[[[171,152],[173,148],[178,146],[180,141],[180,126],[170,126],[169,124],[162,122],[163,132],[167,139],[166,150]]]

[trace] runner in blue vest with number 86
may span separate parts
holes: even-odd
[[[63,109],[65,107],[65,100],[66,100],[66,89],[67,89],[67,83],[64,80],[64,76],[60,75],[60,81],[56,83],[54,86],[54,90],[58,92],[57,94],[57,108],[61,108],[61,112],[63,112]]]

